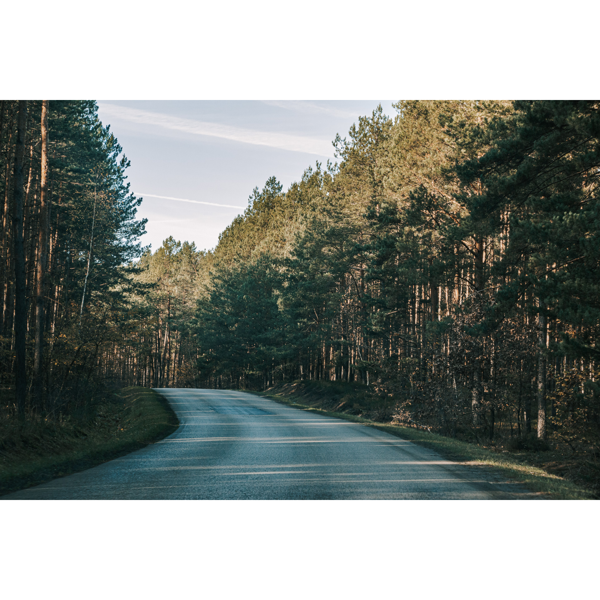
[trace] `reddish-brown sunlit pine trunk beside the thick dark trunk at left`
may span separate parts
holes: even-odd
[[[38,213],[38,251],[35,264],[35,346],[33,388],[35,402],[43,409],[42,362],[44,359],[44,274],[48,258],[49,221],[48,197],[48,100],[41,103],[41,181]]]

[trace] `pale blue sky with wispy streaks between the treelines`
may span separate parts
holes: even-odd
[[[287,190],[316,161],[335,162],[335,134],[392,101],[98,100],[98,116],[131,161],[131,191],[147,218],[142,245],[172,235],[214,248],[255,187],[275,175]]]

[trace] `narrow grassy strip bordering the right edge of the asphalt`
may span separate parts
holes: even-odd
[[[329,412],[327,410],[293,402],[292,400],[288,400],[287,398],[278,395],[263,394],[262,392],[250,393],[263,398],[269,398],[269,400],[274,400],[295,409],[316,412],[323,416],[360,423],[366,427],[374,427],[381,431],[385,431],[392,436],[401,437],[402,439],[409,440],[419,446],[434,450],[447,460],[452,460],[466,466],[481,467],[482,469],[490,470],[490,475],[493,475],[496,478],[500,476],[509,482],[516,482],[548,500],[597,499],[589,490],[579,487],[573,482],[568,481],[568,479],[551,475],[551,473],[547,473],[543,469],[530,464],[507,460],[496,452],[479,448],[479,446],[469,444],[468,442],[454,440],[435,433],[400,427],[398,425],[386,425],[359,416]]]

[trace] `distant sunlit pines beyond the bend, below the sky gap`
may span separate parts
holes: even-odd
[[[206,386],[199,371],[196,303],[206,283],[206,258],[194,244],[169,237],[146,250],[133,274],[123,336],[103,349],[101,372],[119,385]]]

